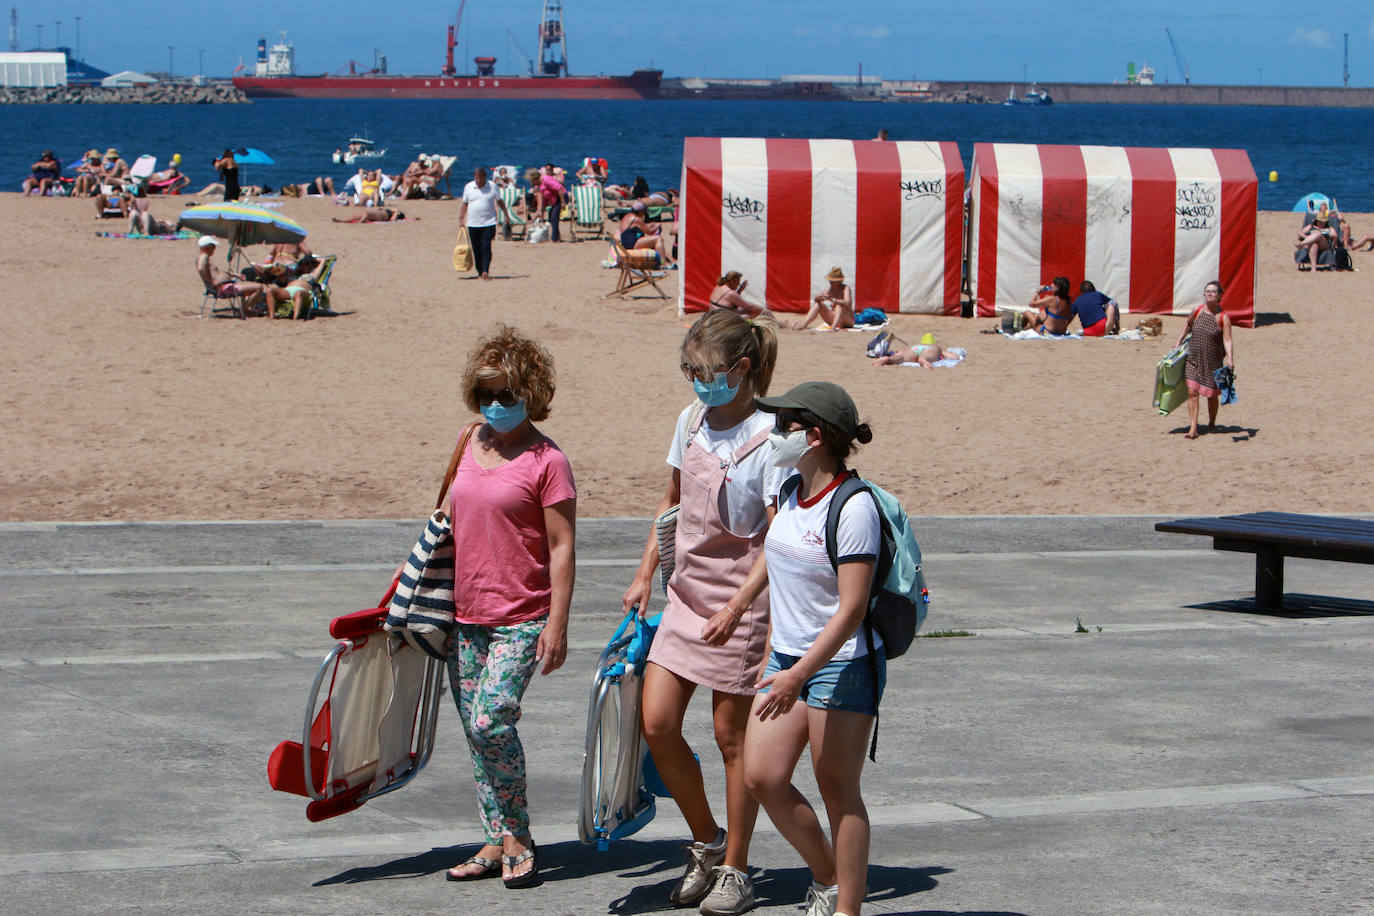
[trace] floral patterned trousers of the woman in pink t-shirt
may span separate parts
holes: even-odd
[[[477,806],[486,842],[529,832],[525,747],[515,724],[534,676],[534,650],[547,617],[513,626],[459,623],[449,644],[448,683],[467,735]]]

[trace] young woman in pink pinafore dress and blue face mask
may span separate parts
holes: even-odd
[[[677,905],[727,916],[753,908],[749,840],[758,802],[745,787],[743,742],[754,684],[768,644],[764,536],[786,468],[771,463],[772,416],[754,407],[768,393],[778,338],[771,321],[734,312],[702,316],[682,346],[683,374],[698,402],[677,417],[668,452],[672,478],[658,507],[680,504],[668,607],[644,672],[643,729],[654,765],[692,834],[682,879],[669,893]],[[649,607],[658,569],[653,533],[628,611]],[[725,765],[721,829],[706,801],[701,768],[683,737],[683,717],[697,691],[712,692],[716,744]]]

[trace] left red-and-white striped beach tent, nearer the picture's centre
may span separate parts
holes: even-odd
[[[679,309],[739,271],[805,312],[840,266],[855,308],[959,314],[963,161],[947,143],[687,137]]]

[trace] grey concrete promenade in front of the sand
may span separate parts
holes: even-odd
[[[1252,556],[1154,520],[916,520],[927,630],[976,636],[890,665],[866,912],[1374,912],[1374,569],[1289,560],[1297,610],[1260,615]],[[609,853],[576,839],[591,669],[643,520],[580,523],[569,662],[526,695],[541,887],[442,879],[480,838],[447,698],[412,786],[322,824],[268,788],[328,619],[375,604],[418,529],[0,525],[0,912],[666,909],[671,801]],[[688,737],[723,799],[708,706]],[[767,816],[750,858],[756,912],[800,913]]]

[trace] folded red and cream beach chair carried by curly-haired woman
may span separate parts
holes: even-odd
[[[330,622],[339,643],[315,676],[301,740],[282,742],[268,759],[272,788],[312,799],[311,821],[405,786],[434,750],[445,666],[382,629],[390,597]]]

